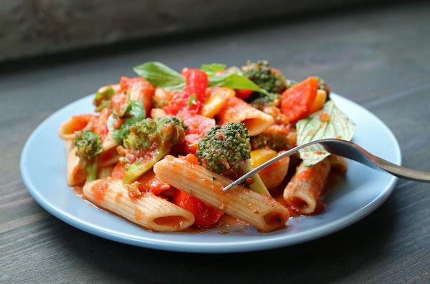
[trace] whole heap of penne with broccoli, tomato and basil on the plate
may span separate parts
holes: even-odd
[[[216,226],[229,216],[270,232],[324,212],[348,161],[319,145],[232,180],[310,140],[351,140],[355,124],[318,76],[291,81],[267,61],[183,68],[159,62],[100,87],[94,112],[58,129],[67,186],[95,206],[157,232]]]

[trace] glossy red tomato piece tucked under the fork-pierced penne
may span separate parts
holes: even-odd
[[[207,205],[200,199],[182,190],[177,190],[174,194],[173,203],[192,212],[196,218],[196,221],[194,221],[194,225],[196,226],[210,226],[216,223],[224,214],[218,208]]]

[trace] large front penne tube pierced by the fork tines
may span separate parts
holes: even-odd
[[[154,172],[171,186],[264,232],[285,227],[290,216],[288,209],[269,195],[260,195],[244,186],[223,192],[223,186],[227,186],[231,179],[172,155],[157,162]]]

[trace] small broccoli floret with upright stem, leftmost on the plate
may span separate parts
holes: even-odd
[[[76,135],[73,143],[76,145],[79,167],[87,173],[87,181],[97,179],[98,154],[103,152],[102,138],[91,130],[85,130]]]

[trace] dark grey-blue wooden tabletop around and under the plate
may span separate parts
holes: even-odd
[[[405,166],[430,171],[429,15],[430,3],[409,2],[2,65],[0,283],[429,283],[429,184],[399,180],[372,214],[315,241],[185,254],[73,228],[30,197],[19,172],[23,145],[38,124],[101,85],[134,76],[139,63],[179,69],[262,58],[288,78],[325,78],[392,129]]]

